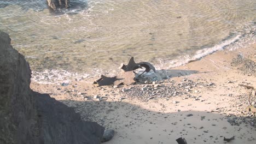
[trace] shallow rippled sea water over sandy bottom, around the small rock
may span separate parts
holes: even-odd
[[[79,0],[81,7],[58,14],[42,1],[30,2],[0,0],[0,30],[35,74],[115,74],[131,56],[168,69],[245,35],[255,41],[253,0]]]

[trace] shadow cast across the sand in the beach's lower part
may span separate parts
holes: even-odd
[[[182,111],[173,105],[171,109],[176,112],[166,113],[165,106],[156,109],[151,105],[152,111],[123,101],[60,101],[74,107],[84,121],[114,129],[115,136],[106,144],[176,143],[179,137],[188,144],[225,143],[224,136],[235,136],[231,143],[255,143],[256,128],[243,122],[246,117],[227,117],[209,112],[207,107],[202,111]]]

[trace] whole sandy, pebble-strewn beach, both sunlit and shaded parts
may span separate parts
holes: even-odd
[[[256,143],[256,118],[245,111],[249,92],[238,86],[256,87],[256,66],[248,68],[238,53],[255,64],[256,44],[218,51],[164,70],[171,78],[157,82],[156,88],[152,84],[93,87],[88,80],[68,86],[32,82],[31,88],[74,107],[85,121],[114,129],[115,136],[106,144],[177,143],[179,137],[188,144],[225,143],[224,137],[232,136],[235,140],[230,143]],[[256,102],[255,96],[251,102]]]

